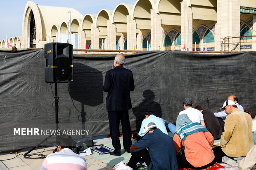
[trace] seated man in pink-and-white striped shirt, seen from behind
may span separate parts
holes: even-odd
[[[56,140],[57,151],[48,155],[40,170],[86,170],[86,161],[74,153],[73,140],[69,135],[62,135]]]

